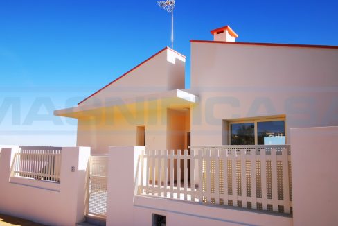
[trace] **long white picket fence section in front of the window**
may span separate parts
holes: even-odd
[[[292,213],[290,146],[145,150],[139,195]]]

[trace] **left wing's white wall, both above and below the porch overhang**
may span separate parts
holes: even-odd
[[[92,153],[107,153],[109,146],[136,145],[136,128],[145,126],[145,144],[152,149],[166,148],[166,107],[161,101],[141,100],[148,94],[184,89],[186,59],[167,48],[130,71],[80,105],[98,105],[123,98],[135,104],[98,108],[89,117],[78,119],[77,146],[90,146]]]

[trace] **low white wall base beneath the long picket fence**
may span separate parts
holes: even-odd
[[[152,214],[166,216],[168,225],[292,225],[288,215],[265,214],[261,211],[211,207],[177,200],[136,196],[134,199],[134,223],[143,218],[143,223],[152,223]],[[143,216],[143,217],[142,217]]]

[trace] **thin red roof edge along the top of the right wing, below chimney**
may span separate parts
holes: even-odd
[[[280,44],[280,43],[257,43],[257,42],[222,42],[222,41],[206,41],[206,40],[190,40],[190,42],[214,43],[214,44],[237,44],[237,45],[251,45],[251,46],[286,46],[286,47],[306,47],[306,48],[338,49],[338,46],[310,45],[310,44]]]

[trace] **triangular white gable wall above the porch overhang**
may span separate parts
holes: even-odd
[[[186,59],[182,55],[167,48],[80,105],[107,103],[172,89],[184,89],[185,62]]]

